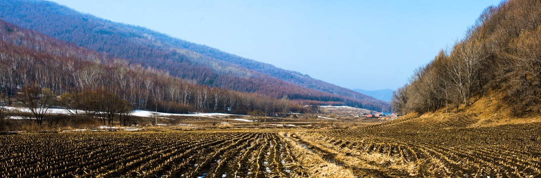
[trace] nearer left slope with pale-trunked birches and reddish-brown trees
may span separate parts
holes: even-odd
[[[18,96],[36,86],[38,90],[47,89],[60,97],[58,102],[47,103],[47,107],[68,109],[100,106],[103,102],[94,99],[107,96],[118,97],[116,102],[127,101],[136,109],[157,107],[169,113],[306,111],[291,100],[192,84],[162,71],[108,58],[3,21],[0,21],[0,34],[0,94],[10,97],[11,101],[17,101]],[[85,100],[95,103],[93,106],[77,103]]]

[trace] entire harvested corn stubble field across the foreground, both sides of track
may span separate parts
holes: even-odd
[[[540,177],[541,124],[0,136],[2,177]]]

